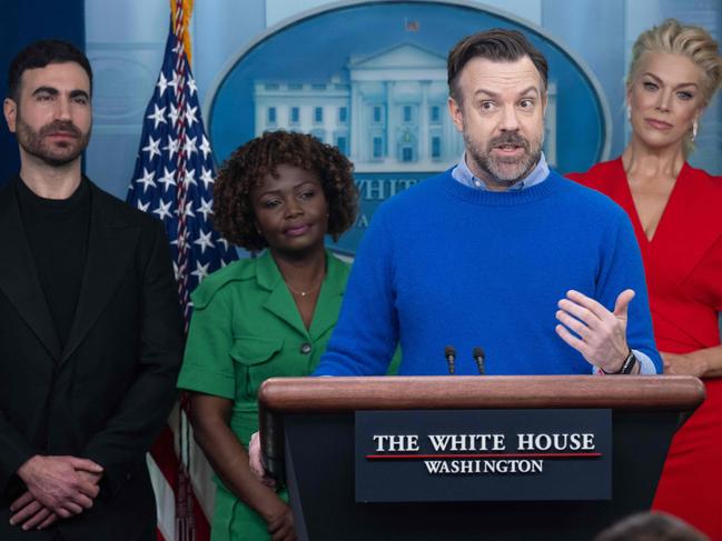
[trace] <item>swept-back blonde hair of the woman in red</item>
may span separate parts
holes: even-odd
[[[722,84],[722,57],[719,44],[702,27],[666,19],[642,32],[632,47],[627,89],[636,80],[645,53],[681,54],[692,60],[702,70],[702,107],[706,107]],[[693,149],[692,137],[684,138],[684,154],[688,156]]]

